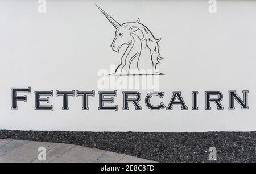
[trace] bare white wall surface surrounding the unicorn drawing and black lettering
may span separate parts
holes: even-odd
[[[159,65],[159,90],[167,106],[180,90],[188,110],[98,110],[99,69],[118,65],[112,51],[114,27],[97,4],[119,23],[137,18],[154,33],[164,60]],[[255,131],[256,130],[256,1],[47,1],[38,13],[37,1],[0,1],[0,129],[71,131]],[[11,88],[31,87],[27,102],[11,110]],[[54,110],[35,110],[35,90],[53,90]],[[61,110],[55,90],[96,90],[89,110],[82,98],[69,97]],[[199,110],[191,110],[192,90],[199,91]],[[224,110],[205,110],[205,90],[220,90]],[[229,90],[249,90],[249,109],[229,110]],[[22,93],[19,93],[22,95]],[[160,101],[160,100],[157,100]],[[155,101],[157,103],[157,101]]]

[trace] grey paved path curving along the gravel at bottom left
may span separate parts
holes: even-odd
[[[46,150],[46,160],[41,160],[43,159],[43,155],[40,154],[40,152],[42,152],[42,147]],[[153,161],[71,144],[0,139],[0,163],[9,162],[147,163]]]

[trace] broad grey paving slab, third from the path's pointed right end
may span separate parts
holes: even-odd
[[[53,163],[93,163],[106,151],[94,148],[75,146],[65,154],[60,155],[51,162]]]

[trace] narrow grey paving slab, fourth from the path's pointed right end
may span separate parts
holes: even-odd
[[[53,159],[59,157],[60,155],[64,154],[71,148],[75,147],[75,145],[72,144],[56,144],[51,150],[46,152],[46,160],[38,160],[36,159],[33,161],[33,163],[48,163],[49,161],[52,161]]]

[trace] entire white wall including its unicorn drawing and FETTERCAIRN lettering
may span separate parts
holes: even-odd
[[[0,129],[255,131],[255,1],[0,1]]]

